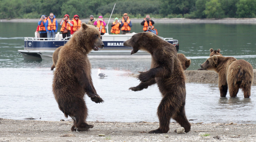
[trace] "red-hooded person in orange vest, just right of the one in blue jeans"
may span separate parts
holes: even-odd
[[[62,38],[70,37],[71,26],[73,26],[73,24],[71,23],[68,14],[64,15],[60,25]]]

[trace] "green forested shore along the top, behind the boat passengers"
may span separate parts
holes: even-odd
[[[116,5],[115,5],[116,4]],[[53,12],[57,18],[65,14],[143,18],[222,19],[256,17],[256,0],[1,0],[0,19],[37,19]]]

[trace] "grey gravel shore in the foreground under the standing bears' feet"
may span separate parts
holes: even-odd
[[[1,142],[255,142],[256,124],[191,123],[191,131],[178,134],[172,122],[168,133],[149,134],[158,122],[88,122],[94,128],[85,132],[70,131],[71,121],[37,121],[0,119]],[[102,134],[103,136],[99,136]],[[209,136],[207,136],[209,135]]]

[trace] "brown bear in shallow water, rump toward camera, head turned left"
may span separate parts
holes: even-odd
[[[218,87],[221,97],[226,97],[227,89],[231,97],[236,97],[239,88],[242,88],[245,98],[250,97],[253,67],[249,62],[233,57],[213,55],[201,64],[201,68],[214,70],[218,73]]]

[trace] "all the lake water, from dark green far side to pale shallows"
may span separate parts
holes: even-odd
[[[209,57],[210,48],[220,48],[224,56],[245,59],[256,68],[254,24],[156,23],[155,27],[159,36],[179,40],[179,53],[192,60],[188,70],[200,68]],[[65,119],[52,93],[52,62],[25,61],[17,51],[23,49],[24,37],[33,36],[35,29],[36,23],[0,24],[0,118]],[[132,32],[142,32],[142,26],[133,23]],[[148,70],[150,59],[93,59],[91,63],[94,86],[105,102],[96,104],[85,96],[88,121],[158,121],[156,113],[161,95],[157,86],[139,92],[128,90],[139,84],[129,74]],[[98,68],[108,76],[99,79]],[[256,123],[256,86],[252,87],[250,98],[243,98],[241,90],[237,98],[230,98],[229,94],[220,98],[217,86],[186,84],[186,116],[195,119],[190,122]]]

